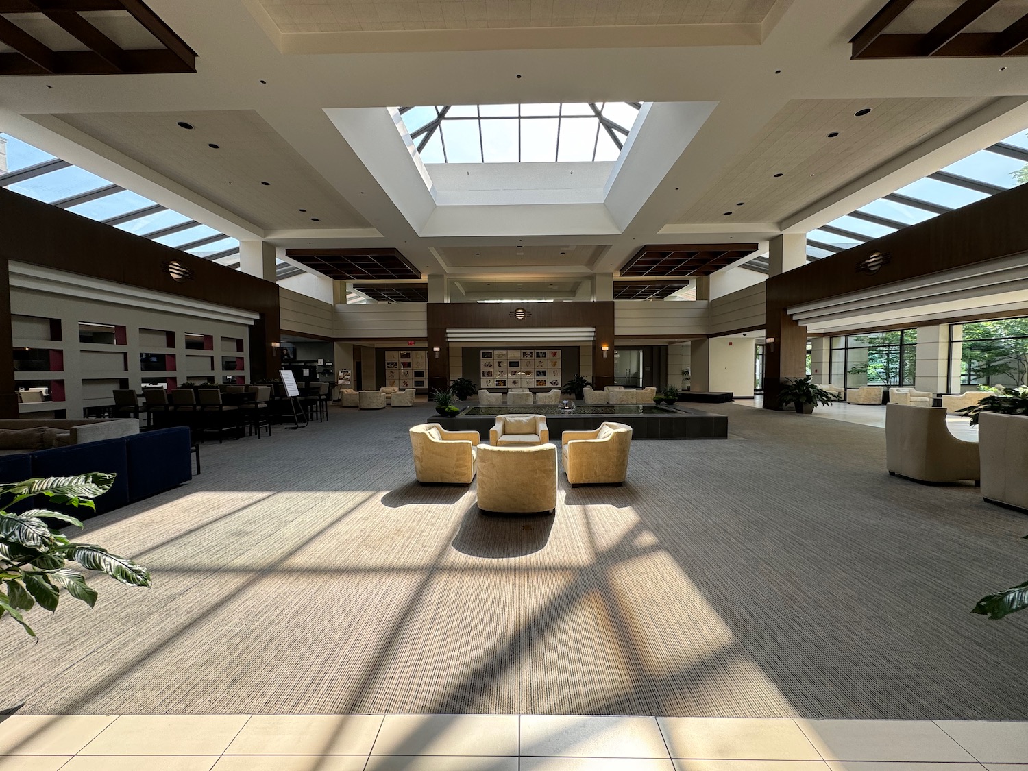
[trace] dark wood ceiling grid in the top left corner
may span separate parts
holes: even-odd
[[[124,11],[163,48],[128,49],[80,15]],[[53,50],[8,16],[41,13],[88,50]],[[140,0],[0,0],[0,75],[118,75],[196,72],[196,52]]]

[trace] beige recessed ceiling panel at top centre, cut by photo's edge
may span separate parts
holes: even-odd
[[[774,0],[260,0],[282,32],[759,24]]]

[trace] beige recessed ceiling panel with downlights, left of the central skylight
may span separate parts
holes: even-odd
[[[58,117],[260,227],[368,227],[255,111]]]

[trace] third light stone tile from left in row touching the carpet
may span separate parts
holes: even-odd
[[[367,755],[380,714],[255,714],[225,755]]]

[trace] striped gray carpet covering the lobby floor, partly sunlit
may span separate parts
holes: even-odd
[[[637,441],[551,518],[413,483],[425,405],[205,445],[88,527],[152,590],[0,625],[0,706],[1023,720],[1028,614],[968,611],[1028,517],[887,476],[881,429],[718,409],[728,441]]]

